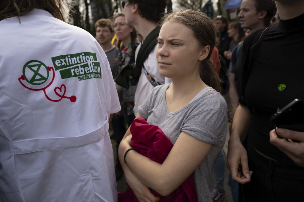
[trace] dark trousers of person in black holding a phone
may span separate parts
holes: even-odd
[[[247,144],[248,145],[248,144]],[[239,184],[239,202],[304,201],[304,167],[292,167],[272,161],[251,146],[247,147],[251,181]]]

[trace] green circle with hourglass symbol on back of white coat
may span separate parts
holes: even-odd
[[[44,67],[44,68],[41,68]],[[49,78],[47,65],[38,60],[28,61],[22,70],[23,76],[27,82],[33,85],[41,85]]]

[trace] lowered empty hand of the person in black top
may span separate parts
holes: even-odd
[[[241,164],[242,170],[239,170],[239,164]],[[229,140],[226,166],[234,181],[240,184],[250,182],[252,171],[248,167],[247,151],[237,138]]]

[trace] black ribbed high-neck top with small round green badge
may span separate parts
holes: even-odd
[[[260,41],[247,83],[246,75],[241,75],[242,85],[246,85],[241,87],[240,97],[244,96],[246,102],[241,98],[239,101],[252,108],[247,144],[281,162],[284,162],[284,153],[269,142],[269,132],[275,128],[270,117],[295,98],[304,100],[304,24],[301,22],[304,14],[280,20],[268,28],[264,40]],[[244,41],[243,55],[248,48],[245,44]],[[286,158],[287,164],[296,166]]]

